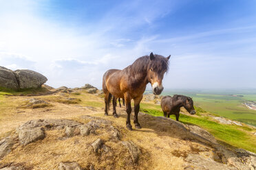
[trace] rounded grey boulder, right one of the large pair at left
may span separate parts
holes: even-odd
[[[47,81],[47,78],[40,73],[31,70],[14,71],[19,82],[19,88],[39,88]]]

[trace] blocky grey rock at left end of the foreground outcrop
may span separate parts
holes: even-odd
[[[43,127],[19,130],[19,141],[22,145],[28,145],[43,138],[45,138]]]

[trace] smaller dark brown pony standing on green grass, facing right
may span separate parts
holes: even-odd
[[[176,121],[179,121],[180,108],[182,106],[184,106],[190,114],[195,114],[195,108],[191,97],[184,95],[173,95],[173,97],[167,95],[162,97],[161,108],[164,112],[164,117],[170,117],[170,114],[175,114]]]

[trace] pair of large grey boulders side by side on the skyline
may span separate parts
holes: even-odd
[[[24,88],[39,88],[47,78],[36,71],[17,70],[11,71],[0,66],[0,86],[14,90]]]

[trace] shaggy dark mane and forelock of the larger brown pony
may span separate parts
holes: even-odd
[[[150,62],[149,56],[142,56],[135,60],[133,64],[130,65],[131,71],[133,73],[142,73],[147,71],[148,69],[153,69],[156,73],[161,73],[162,71],[168,71],[169,69],[169,60],[160,56],[158,54],[154,54],[155,58]]]

